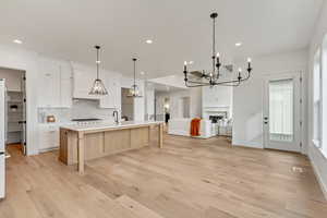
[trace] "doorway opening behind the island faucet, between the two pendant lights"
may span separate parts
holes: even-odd
[[[134,120],[134,98],[128,97],[130,88],[121,88],[121,119]]]

